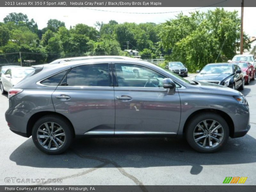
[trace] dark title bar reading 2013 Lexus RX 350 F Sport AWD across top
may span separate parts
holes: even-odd
[[[242,0],[1,0],[0,7],[240,7]],[[256,0],[244,1],[256,7]]]

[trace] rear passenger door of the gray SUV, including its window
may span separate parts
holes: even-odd
[[[55,111],[68,117],[76,134],[114,134],[115,100],[109,66],[73,67],[52,94]]]

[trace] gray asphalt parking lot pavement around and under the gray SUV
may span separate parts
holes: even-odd
[[[229,139],[220,152],[202,154],[183,139],[84,138],[67,153],[50,156],[31,138],[12,133],[5,122],[8,98],[0,95],[0,185],[17,179],[62,179],[64,185],[221,185],[225,177],[248,177],[256,184],[256,80],[243,91],[250,106],[251,130]]]

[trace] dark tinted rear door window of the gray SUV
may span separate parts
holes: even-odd
[[[109,86],[108,63],[88,64],[72,68],[62,86]]]

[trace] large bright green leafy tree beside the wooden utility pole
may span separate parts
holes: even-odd
[[[182,13],[175,19],[161,25],[159,37],[164,50],[171,51],[167,60],[179,60],[195,71],[222,58],[232,58],[236,54],[239,41],[240,19],[237,12],[216,8],[208,12]],[[250,47],[247,35],[244,46]],[[222,49],[221,49],[222,48]],[[221,57],[217,57],[221,54]],[[225,61],[224,60],[224,61]]]

